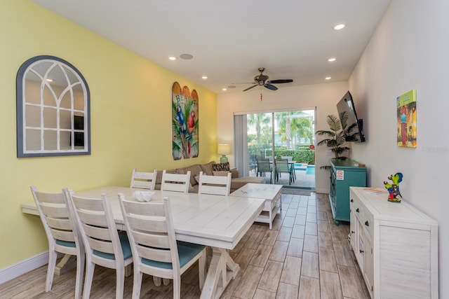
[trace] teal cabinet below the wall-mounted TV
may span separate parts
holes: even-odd
[[[350,221],[349,187],[366,187],[366,167],[358,167],[351,159],[330,160],[330,208],[335,225]]]

